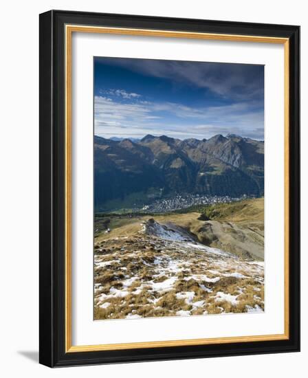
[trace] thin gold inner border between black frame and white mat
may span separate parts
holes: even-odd
[[[133,342],[123,344],[72,345],[72,34],[73,32],[122,34],[132,36],[159,36],[168,38],[195,38],[214,41],[239,41],[254,43],[279,43],[284,45],[284,312],[285,332],[277,335],[216,337],[207,339]],[[65,25],[65,353],[90,351],[115,351],[135,348],[162,348],[167,346],[192,346],[228,344],[236,342],[261,342],[289,340],[289,38],[213,34],[202,32],[175,32],[172,30],[146,30],[124,27],[98,27]]]

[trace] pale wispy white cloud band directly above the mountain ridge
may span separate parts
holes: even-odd
[[[94,113],[95,133],[102,137],[142,137],[152,133],[185,139],[236,133],[263,139],[263,109],[258,101],[194,108],[176,102],[127,103],[96,96]]]

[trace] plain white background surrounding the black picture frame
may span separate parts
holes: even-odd
[[[302,27],[302,140],[308,140],[308,21],[305,1],[293,0],[61,0],[9,1],[1,7],[0,57],[0,371],[4,377],[276,377],[303,376],[307,370],[307,274],[302,279],[302,352],[175,362],[88,366],[52,370],[38,359],[39,266],[39,13],[50,9],[148,14]],[[308,257],[307,191],[302,151],[302,267]]]

